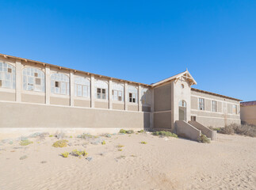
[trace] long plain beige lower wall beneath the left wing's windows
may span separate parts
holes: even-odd
[[[147,125],[149,114],[145,112],[0,102],[0,127],[141,129]]]

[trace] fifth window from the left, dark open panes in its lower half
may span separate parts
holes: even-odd
[[[99,79],[95,79],[94,85],[95,85],[95,97],[97,99],[107,100],[108,99],[108,89],[109,89],[108,82],[99,80]]]

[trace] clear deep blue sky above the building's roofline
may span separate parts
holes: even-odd
[[[256,1],[0,0],[0,52],[256,101]]]

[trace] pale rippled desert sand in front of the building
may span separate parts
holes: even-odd
[[[151,133],[63,136],[67,146],[54,147],[59,139],[49,135],[27,146],[0,141],[1,190],[256,189],[256,138],[218,134],[208,144]],[[88,154],[61,156],[75,149]]]

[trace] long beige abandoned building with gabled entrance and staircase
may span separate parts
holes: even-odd
[[[145,128],[195,139],[240,124],[241,100],[193,85],[188,70],[147,85],[0,54],[0,128]]]

